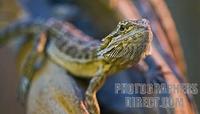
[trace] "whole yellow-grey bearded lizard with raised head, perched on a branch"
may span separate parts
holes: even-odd
[[[141,58],[149,54],[152,40],[150,25],[146,19],[119,22],[116,29],[103,38],[102,42],[74,38],[76,36],[73,36],[71,31],[66,31],[63,23],[55,20],[47,24],[28,22],[23,24],[24,26],[19,25],[0,32],[0,43],[9,41],[16,34],[46,31],[49,43],[44,52],[73,76],[92,78],[85,93],[85,104],[90,114],[100,114],[96,92],[102,87],[106,77],[136,65]],[[32,78],[27,75],[29,74],[24,78],[28,80],[26,83],[30,83]],[[24,86],[23,83],[22,81],[20,85]],[[23,86],[21,88],[27,90],[20,91],[22,93],[19,95],[25,97],[28,87]]]

